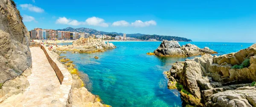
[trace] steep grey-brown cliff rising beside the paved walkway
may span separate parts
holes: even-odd
[[[0,102],[29,86],[29,31],[12,0],[0,1]]]

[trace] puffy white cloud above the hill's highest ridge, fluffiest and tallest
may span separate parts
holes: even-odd
[[[95,26],[102,26],[102,27],[108,27],[108,23],[105,23],[105,20],[99,18],[99,17],[90,17],[87,20],[85,20],[85,23],[87,25],[95,25]]]

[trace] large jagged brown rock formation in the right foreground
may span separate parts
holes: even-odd
[[[236,53],[176,62],[166,74],[169,88],[177,88],[187,104],[256,107],[256,87],[250,84],[256,81],[256,44]]]

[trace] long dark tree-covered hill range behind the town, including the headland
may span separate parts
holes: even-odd
[[[111,34],[111,35],[123,35],[123,33],[117,33],[117,32],[105,32],[105,31],[97,31],[92,28],[71,28],[67,27],[64,29],[57,29],[57,31],[70,31],[70,32],[85,32],[89,34]],[[162,41],[163,39],[165,40],[177,40],[177,41],[186,41],[190,42],[192,41],[191,39],[187,39],[184,37],[173,37],[173,36],[160,36],[160,35],[148,35],[148,34],[126,34],[126,37],[134,37],[137,39],[142,39],[142,40],[148,40],[148,39],[156,39],[158,41]]]

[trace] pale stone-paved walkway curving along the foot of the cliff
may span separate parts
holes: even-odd
[[[63,73],[64,80],[60,84],[44,51],[39,47],[32,47],[30,51],[32,74],[27,77],[29,87],[24,93],[11,96],[3,101],[0,107],[66,107],[72,85],[70,73]]]

